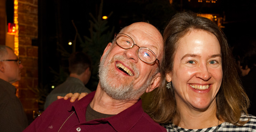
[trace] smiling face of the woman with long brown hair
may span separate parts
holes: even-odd
[[[216,108],[216,94],[222,81],[221,47],[213,34],[203,30],[188,32],[178,41],[172,81],[178,108]]]

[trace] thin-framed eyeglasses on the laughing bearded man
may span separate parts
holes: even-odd
[[[116,44],[119,45],[120,47],[122,47],[123,49],[130,49],[132,48],[134,45],[134,41],[132,40],[132,38],[126,34],[115,34],[115,40],[116,40]],[[138,46],[138,45],[136,45]],[[139,47],[138,52],[138,56],[140,58],[141,61],[148,63],[148,64],[153,64],[156,60],[158,61],[158,65],[160,67],[160,63],[159,60],[156,58],[155,53],[150,50],[147,47]]]

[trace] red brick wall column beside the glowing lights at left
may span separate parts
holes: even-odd
[[[23,65],[18,92],[29,122],[33,110],[38,110],[38,46],[32,40],[38,38],[38,0],[18,0],[19,57]]]

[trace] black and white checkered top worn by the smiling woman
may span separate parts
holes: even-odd
[[[243,126],[235,126],[228,122],[223,122],[220,125],[204,129],[184,129],[178,126],[171,124],[164,124],[163,126],[166,128],[167,132],[256,132],[256,116],[247,115],[250,120]],[[242,115],[240,120],[247,120],[246,115]]]

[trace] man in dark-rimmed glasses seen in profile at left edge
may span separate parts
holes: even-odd
[[[23,65],[14,51],[0,45],[0,131],[22,132],[28,126],[23,106],[16,97],[16,88],[11,85],[21,78]]]

